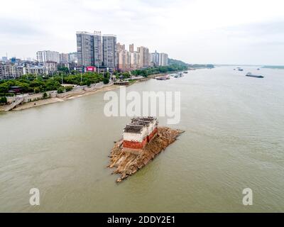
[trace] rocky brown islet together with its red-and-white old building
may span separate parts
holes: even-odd
[[[123,138],[111,150],[109,168],[121,176],[116,182],[133,175],[183,133],[178,129],[158,127],[153,117],[133,118],[124,128]]]

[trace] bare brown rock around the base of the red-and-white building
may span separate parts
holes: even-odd
[[[133,175],[147,165],[162,150],[165,150],[168,145],[175,142],[183,132],[178,129],[159,127],[158,135],[139,152],[124,150],[122,140],[116,142],[111,150],[111,155],[109,155],[111,160],[108,165],[109,168],[115,168],[113,173],[121,175],[116,182],[121,182],[121,180]]]

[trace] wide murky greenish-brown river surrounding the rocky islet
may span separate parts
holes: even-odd
[[[180,91],[170,127],[185,133],[120,184],[108,155],[130,118],[104,116],[103,92],[0,114],[0,211],[284,212],[284,70],[233,69],[127,87]],[[31,188],[40,206],[29,204]]]

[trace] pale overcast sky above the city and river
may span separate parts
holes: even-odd
[[[0,57],[74,52],[76,31],[188,63],[284,65],[283,0],[1,1]]]

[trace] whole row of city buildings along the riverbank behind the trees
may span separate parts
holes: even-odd
[[[77,52],[38,50],[36,60],[1,57],[0,79],[16,79],[26,74],[50,75],[63,68],[68,72],[99,73],[99,70],[126,72],[168,65],[168,54],[156,50],[151,53],[144,46],[137,47],[135,51],[134,43],[126,50],[125,44],[116,42],[116,35],[102,35],[101,31],[77,31],[76,45]]]

